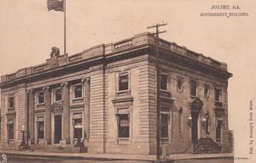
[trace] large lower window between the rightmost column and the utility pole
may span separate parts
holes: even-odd
[[[130,137],[130,117],[129,114],[118,115],[118,132],[119,138]]]

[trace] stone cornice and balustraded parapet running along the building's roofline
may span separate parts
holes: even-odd
[[[130,59],[143,54],[154,55],[156,46],[160,49],[162,59],[170,60],[178,65],[199,70],[213,76],[228,79],[232,74],[227,65],[215,59],[195,53],[175,42],[159,39],[151,33],[138,34],[119,42],[98,45],[71,56],[60,55],[56,59],[47,59],[46,63],[20,69],[13,74],[1,77],[0,87],[10,87],[19,83],[33,82],[49,76],[63,76],[73,72],[89,69],[94,65],[108,65],[122,59]],[[57,64],[56,64],[57,63]],[[102,66],[102,69],[104,66]]]

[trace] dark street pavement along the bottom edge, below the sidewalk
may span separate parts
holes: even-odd
[[[1,159],[0,159],[1,162]],[[63,158],[38,158],[38,157],[21,157],[8,155],[8,163],[149,163],[148,161],[131,161],[131,160],[70,160]],[[212,160],[176,160],[175,163],[233,163],[231,159],[212,159]]]

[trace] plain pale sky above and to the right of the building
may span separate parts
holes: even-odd
[[[63,53],[63,13],[48,11],[46,2],[0,0],[0,76],[44,63],[53,46]],[[210,9],[221,4],[238,5],[239,10],[229,12],[246,12],[248,16],[200,16],[223,12]],[[255,7],[253,0],[67,0],[67,53],[133,37],[152,31],[147,29],[149,25],[167,22],[161,28],[167,32],[160,37],[228,64],[233,73],[228,91],[235,155],[252,157],[248,154],[247,134],[249,101],[254,99],[256,105]],[[254,126],[255,115],[256,111]]]

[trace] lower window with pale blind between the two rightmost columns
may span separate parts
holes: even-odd
[[[83,137],[83,115],[82,113],[73,114],[73,138]]]

